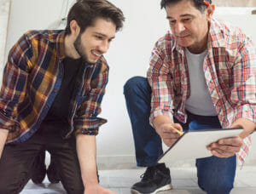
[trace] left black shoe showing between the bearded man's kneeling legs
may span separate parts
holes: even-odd
[[[35,184],[41,184],[46,174],[46,166],[44,163],[45,151],[40,151],[32,165],[32,181]]]

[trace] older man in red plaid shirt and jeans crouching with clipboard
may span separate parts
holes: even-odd
[[[137,165],[148,167],[133,193],[172,188],[169,169],[156,161],[161,140],[171,146],[177,130],[244,128],[208,145],[212,157],[196,160],[198,184],[208,194],[230,193],[236,156],[243,163],[247,155],[256,119],[255,48],[240,29],[212,18],[211,3],[161,0],[172,34],[155,44],[148,80],[133,77],[125,84]]]

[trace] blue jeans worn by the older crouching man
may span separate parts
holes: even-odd
[[[145,77],[132,77],[124,87],[126,107],[131,119],[137,166],[157,164],[163,153],[160,136],[149,124],[151,88]],[[180,123],[175,117],[175,123]],[[204,117],[188,113],[183,130],[221,128],[218,117]],[[207,194],[228,194],[233,188],[236,174],[236,156],[228,158],[206,157],[196,159],[198,185]]]

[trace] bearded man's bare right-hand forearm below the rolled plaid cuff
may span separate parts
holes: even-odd
[[[97,185],[96,136],[78,134],[77,153],[84,187],[86,187],[86,185]]]

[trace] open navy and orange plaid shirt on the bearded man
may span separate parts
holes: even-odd
[[[63,77],[64,31],[27,31],[9,52],[0,92],[0,128],[7,143],[20,143],[34,134],[47,115]],[[108,83],[108,64],[84,63],[69,106],[64,137],[97,134],[107,120],[97,117]],[[63,105],[67,106],[67,105]]]

